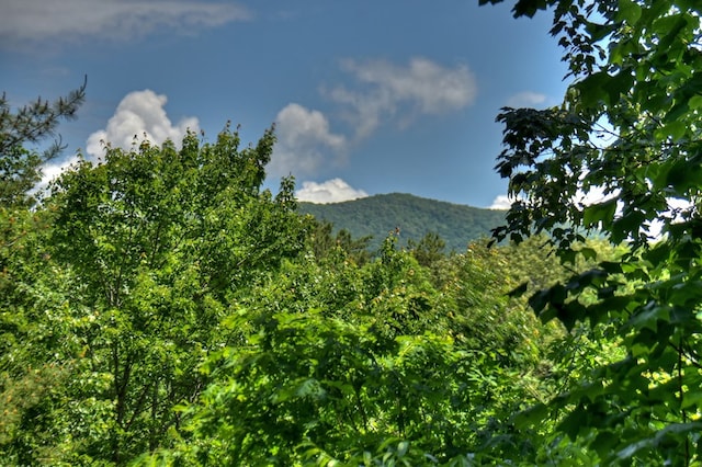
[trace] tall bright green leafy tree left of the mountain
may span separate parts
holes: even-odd
[[[56,410],[75,442],[56,463],[123,465],[172,441],[174,407],[204,389],[196,368],[227,343],[233,300],[304,244],[292,181],[275,197],[260,189],[273,143],[268,130],[240,148],[227,127],[180,150],[107,146],[103,163],[53,184],[48,253],[71,282],[53,312],[73,343]]]

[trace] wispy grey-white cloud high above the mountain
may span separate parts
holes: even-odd
[[[418,115],[443,114],[471,105],[477,94],[474,75],[465,66],[446,68],[427,58],[412,58],[398,66],[386,60],[346,60],[342,69],[359,87],[326,91],[329,99],[346,105],[356,137],[372,134],[383,118],[400,116],[400,126]]]

